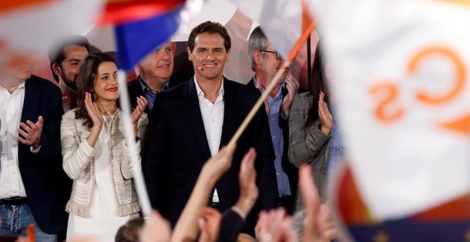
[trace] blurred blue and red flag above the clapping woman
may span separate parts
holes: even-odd
[[[101,24],[115,25],[119,68],[130,70],[160,44],[170,41],[203,0],[108,0]]]

